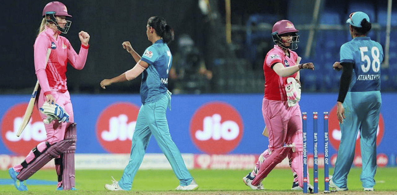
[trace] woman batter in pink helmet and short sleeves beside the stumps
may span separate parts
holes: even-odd
[[[243,178],[251,189],[264,189],[262,180],[288,156],[294,173],[293,189],[303,189],[303,138],[299,71],[314,70],[313,63],[299,64],[297,49],[299,32],[291,21],[280,20],[272,29],[275,43],[265,57],[262,114],[268,129],[269,145],[258,159],[252,172]],[[312,189],[311,185],[308,188]],[[311,190],[310,190],[311,191]]]

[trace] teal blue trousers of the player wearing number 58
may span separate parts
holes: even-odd
[[[347,188],[347,175],[353,164],[357,134],[360,132],[362,187],[375,185],[376,132],[382,105],[380,91],[348,92],[343,102],[345,117],[341,127],[341,143],[335,162],[333,182],[340,188]]]

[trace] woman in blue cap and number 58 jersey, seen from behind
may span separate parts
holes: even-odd
[[[380,66],[382,46],[367,37],[370,19],[364,12],[354,12],[347,19],[353,38],[341,46],[340,62],[333,68],[342,69],[337,100],[337,118],[341,127],[341,143],[330,187],[347,190],[349,174],[355,156],[357,133],[360,132],[362,158],[361,182],[364,191],[374,191],[376,172],[376,131],[382,104]]]

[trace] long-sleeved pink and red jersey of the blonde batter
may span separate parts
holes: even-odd
[[[89,48],[89,46],[81,45],[80,52],[77,55],[65,37],[58,35],[56,40],[52,35],[54,35],[54,31],[46,27],[37,36],[34,45],[35,70],[44,95],[50,94],[50,91],[60,93],[67,91],[67,63],[69,62],[77,70],[83,69]],[[48,63],[45,64],[48,48],[51,48],[51,54]]]

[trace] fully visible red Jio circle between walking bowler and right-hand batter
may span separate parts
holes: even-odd
[[[198,108],[190,122],[190,137],[206,154],[227,154],[243,137],[243,120],[239,112],[225,102],[209,102]]]

